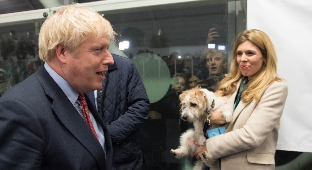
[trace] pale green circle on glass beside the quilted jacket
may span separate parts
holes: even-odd
[[[173,82],[166,62],[149,52],[138,54],[131,61],[140,73],[150,103],[163,98]]]

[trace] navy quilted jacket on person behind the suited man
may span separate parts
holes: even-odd
[[[141,169],[139,126],[148,118],[149,99],[131,60],[112,56],[115,63],[108,67],[103,87],[98,90],[98,111],[112,139],[113,169]]]

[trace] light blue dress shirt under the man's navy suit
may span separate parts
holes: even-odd
[[[56,84],[58,86],[60,86],[60,88],[63,90],[63,92],[65,93],[67,98],[71,101],[71,104],[74,105],[74,107],[76,108],[76,110],[78,111],[78,113],[80,114],[82,119],[85,120],[85,117],[82,114],[81,104],[78,100],[79,92],[77,92],[73,87],[71,87],[71,85],[66,80],[64,80],[60,75],[58,75],[46,62],[44,63],[44,68],[49,73],[49,75],[51,75],[52,79],[56,82]],[[101,144],[101,146],[102,146],[102,148],[106,154],[105,138],[104,138],[103,128],[99,124],[99,122],[95,120],[90,109],[88,109],[88,110],[89,110],[91,122],[92,122],[93,127],[95,129],[95,132],[99,138],[99,142],[100,142],[100,144]]]

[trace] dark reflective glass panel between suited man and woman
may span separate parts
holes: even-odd
[[[170,153],[181,133],[193,127],[180,119],[178,95],[197,85],[217,90],[232,61],[234,36],[246,29],[244,5],[192,1],[99,9],[120,35],[110,52],[135,63],[151,102],[153,116],[140,129],[145,169],[192,169],[193,158]]]

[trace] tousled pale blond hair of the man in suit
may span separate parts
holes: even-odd
[[[110,22],[89,7],[74,3],[60,8],[46,18],[39,33],[39,57],[49,61],[56,56],[59,44],[74,52],[87,38],[107,36],[115,42],[115,32]]]

